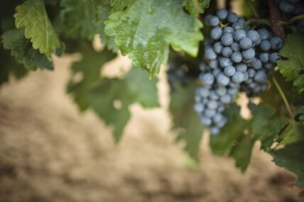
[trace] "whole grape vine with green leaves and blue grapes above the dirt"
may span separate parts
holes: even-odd
[[[191,157],[200,159],[207,131],[212,152],[232,157],[245,171],[259,141],[303,188],[304,2],[236,0],[237,10],[224,3],[1,1],[0,84],[36,69],[50,71],[55,55],[78,52],[67,93],[80,111],[92,109],[112,125],[119,142],[129,106],[160,106],[157,75],[168,64],[172,130]],[[102,50],[92,45],[96,37]],[[102,67],[118,51],[132,60],[132,69],[104,76]],[[249,99],[249,118],[240,115],[240,94]]]

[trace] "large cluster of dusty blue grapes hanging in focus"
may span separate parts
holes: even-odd
[[[257,96],[267,89],[283,41],[265,28],[251,30],[244,18],[219,9],[208,15],[205,24],[211,26],[210,40],[205,40],[204,62],[199,76],[202,86],[195,94],[195,111],[203,125],[216,135],[227,123],[225,106],[232,103],[238,91]]]

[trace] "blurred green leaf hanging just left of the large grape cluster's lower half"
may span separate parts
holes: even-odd
[[[185,141],[185,151],[197,159],[200,150],[203,126],[193,110],[195,83],[175,88],[170,93],[170,113],[173,118],[172,130],[178,132],[178,141]]]

